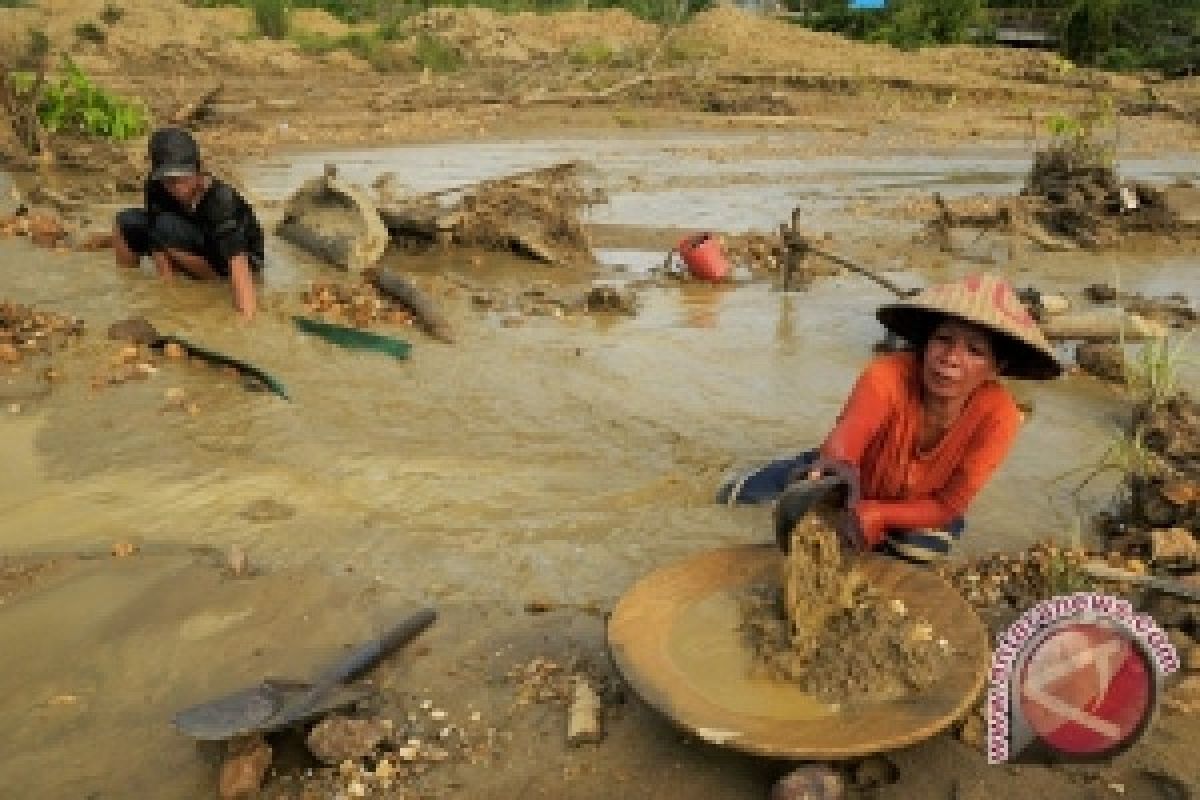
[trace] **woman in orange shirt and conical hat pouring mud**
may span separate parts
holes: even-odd
[[[812,486],[840,480],[845,545],[929,563],[962,534],[967,507],[1016,438],[1021,414],[997,379],[1052,379],[1062,367],[992,275],[931,287],[876,315],[911,349],[868,365],[820,449],[732,476],[718,499],[778,499],[776,524],[794,522]]]

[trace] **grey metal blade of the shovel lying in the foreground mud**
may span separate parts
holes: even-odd
[[[281,709],[302,699],[312,688],[312,684],[302,681],[266,679],[258,686],[180,711],[175,715],[175,727],[180,733],[200,741],[223,741],[251,733],[266,733],[275,729],[271,718]],[[370,690],[356,686],[335,686],[312,706],[308,716],[349,708],[370,693]]]

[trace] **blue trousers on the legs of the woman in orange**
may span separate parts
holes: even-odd
[[[716,501],[731,506],[772,503],[788,483],[806,473],[818,457],[816,450],[809,450],[742,470],[721,482],[716,489]],[[964,530],[966,521],[962,517],[940,529],[892,528],[886,531],[880,552],[914,564],[929,564],[949,555],[950,547],[962,536]]]

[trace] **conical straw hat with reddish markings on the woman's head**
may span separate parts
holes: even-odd
[[[1045,380],[1062,374],[1054,348],[1018,300],[1013,287],[995,275],[972,275],[930,287],[896,303],[881,306],[876,317],[910,342],[923,341],[941,317],[958,317],[1008,339],[1001,374]]]

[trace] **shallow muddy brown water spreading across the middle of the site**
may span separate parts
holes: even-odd
[[[282,196],[331,160],[352,180],[390,169],[415,188],[442,188],[580,155],[601,164],[598,182],[616,187],[613,205],[598,209],[595,219],[665,229],[769,228],[804,197],[815,198],[814,219],[833,228],[842,224],[836,210],[862,193],[899,196],[938,181],[1004,186],[1018,175],[1015,157],[1001,150],[992,154],[996,164],[980,167],[974,154],[914,166],[875,158],[868,149],[869,162],[856,173],[851,164],[805,161],[799,138],[768,142],[779,158],[762,156],[761,144],[679,134],[443,145],[305,155],[247,174],[264,197]],[[780,161],[784,180],[760,180]],[[714,164],[751,178],[728,188],[672,188],[707,180]],[[659,188],[638,191],[631,175]],[[797,184],[808,194],[798,194]],[[828,187],[830,197],[815,187]],[[887,224],[881,218],[871,230]],[[865,227],[859,221],[856,235]],[[715,506],[713,491],[732,465],[820,440],[880,336],[871,311],[886,299],[853,277],[822,281],[804,294],[766,284],[649,289],[635,319],[530,318],[509,329],[470,311],[462,290],[439,283],[438,300],[460,344],[404,331],[413,357],[396,362],[341,351],[292,329],[300,288],[331,272],[275,240],[265,311],[252,325],[235,319],[222,287],[166,287],[146,272],[116,270],[107,254],[52,254],[23,241],[0,247],[0,296],[82,315],[94,332],[60,357],[67,380],[48,399],[0,417],[6,552],[107,549],[116,540],[238,545],[270,569],[349,571],[412,602],[434,600],[457,614],[454,636],[472,640],[529,636],[520,614],[529,597],[608,606],[656,565],[769,536],[766,510]],[[635,271],[656,258],[636,249],[611,255]],[[1057,263],[1050,275],[1064,284],[1111,267],[1127,289],[1198,293],[1186,259]],[[493,266],[506,279],[587,277],[498,257],[480,265],[456,254],[412,264],[416,272],[451,270],[481,283]],[[922,283],[966,269],[900,277]],[[90,375],[115,349],[104,329],[132,314],[260,366],[294,401],[247,393],[218,373],[172,363],[150,380],[91,391]],[[163,411],[168,387],[185,389],[199,414]],[[1080,379],[1020,391],[1036,410],[972,509],[962,545],[968,552],[1066,535],[1076,506],[1069,483],[1054,479],[1104,450],[1121,409],[1115,395]],[[1103,482],[1092,487],[1085,507],[1105,491]],[[203,595],[192,600],[204,602]],[[485,621],[488,610],[502,619]],[[598,630],[584,639],[599,642]],[[19,662],[6,669],[14,685],[30,676]],[[655,752],[646,738],[655,735],[666,734],[653,726],[629,733],[629,752],[644,760]],[[536,775],[536,759],[530,764]],[[78,766],[94,768],[86,759]],[[172,796],[190,795],[179,788]]]

